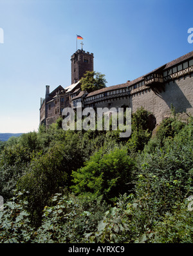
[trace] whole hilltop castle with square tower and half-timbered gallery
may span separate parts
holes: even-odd
[[[117,109],[127,106],[132,112],[143,107],[154,115],[157,124],[170,116],[171,106],[183,119],[193,115],[193,51],[133,81],[88,94],[81,90],[80,79],[86,71],[93,71],[93,59],[93,54],[77,50],[71,56],[71,85],[66,88],[60,85],[53,92],[46,85],[45,99],[41,98],[41,124],[48,127],[62,117],[63,108],[78,106]]]

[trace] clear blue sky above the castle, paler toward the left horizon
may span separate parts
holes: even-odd
[[[38,129],[46,85],[71,84],[77,34],[107,86],[121,84],[193,50],[192,8],[192,0],[0,0],[0,132]]]

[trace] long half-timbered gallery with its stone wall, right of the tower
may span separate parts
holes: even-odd
[[[122,84],[122,88],[111,86],[104,92],[98,90],[94,95],[87,95],[84,103],[96,108],[126,105],[133,112],[142,106],[155,115],[157,123],[169,117],[171,105],[183,119],[187,114],[193,115],[193,59],[168,63],[161,68],[136,79],[136,83]],[[162,84],[161,90],[156,90],[156,83]]]

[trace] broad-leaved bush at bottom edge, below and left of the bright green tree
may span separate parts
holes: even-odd
[[[34,242],[83,242],[84,233],[93,231],[105,209],[100,198],[78,199],[57,193],[51,206],[44,208]]]

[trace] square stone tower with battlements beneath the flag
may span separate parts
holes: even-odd
[[[93,71],[93,54],[77,50],[71,55],[71,84],[77,83],[86,71]]]

